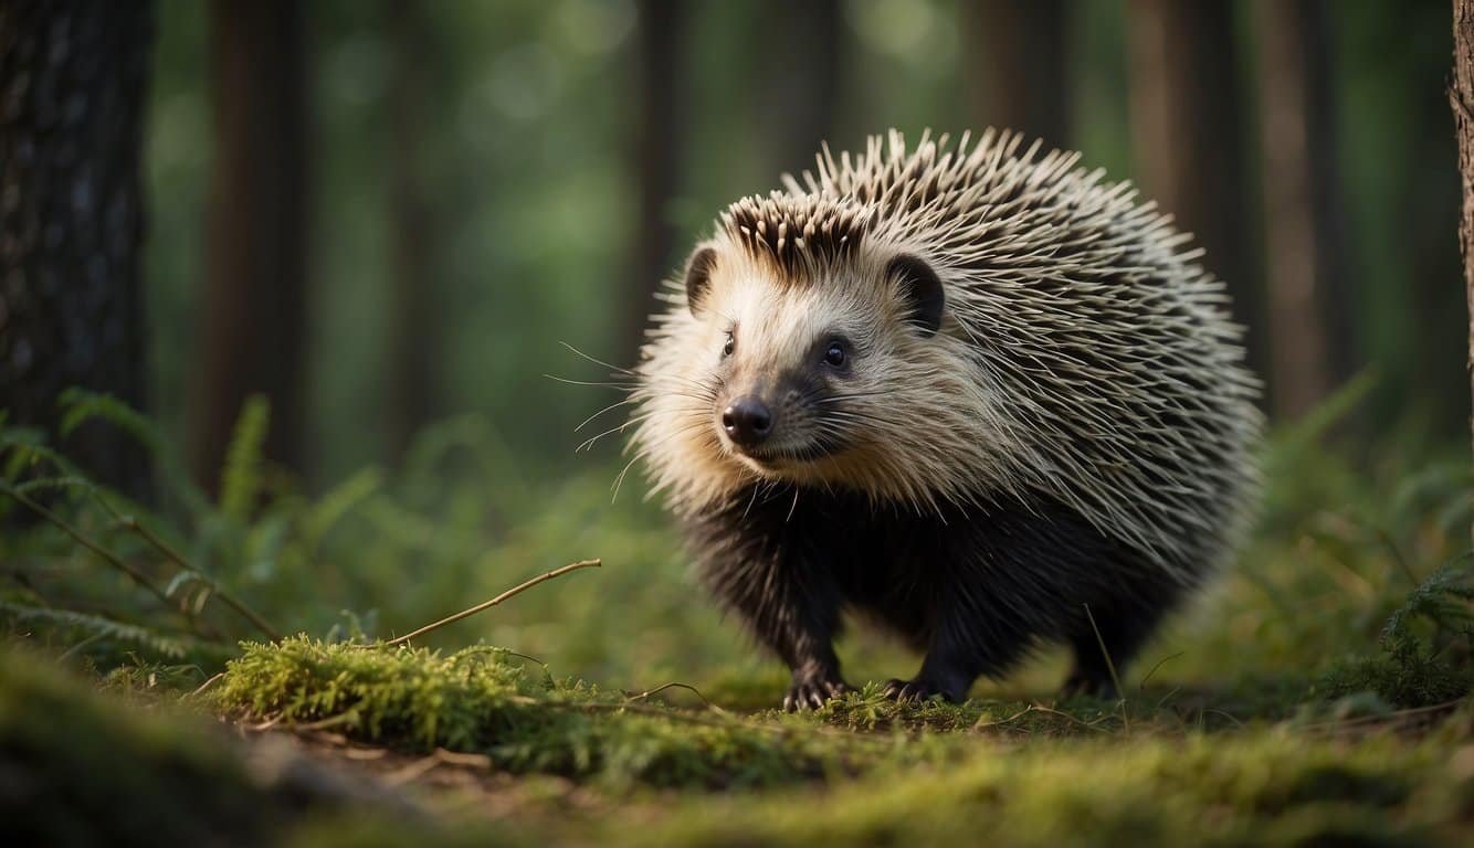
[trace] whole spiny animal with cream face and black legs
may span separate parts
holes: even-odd
[[[817,162],[671,281],[631,420],[653,489],[789,710],[848,689],[845,611],[924,652],[898,698],[1058,642],[1067,690],[1111,692],[1256,492],[1223,284],[1129,184],[1017,134]]]

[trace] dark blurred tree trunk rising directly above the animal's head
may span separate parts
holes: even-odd
[[[759,18],[769,54],[787,57],[765,63],[764,127],[777,178],[812,169],[820,143],[833,138],[843,94],[845,12],[840,0],[765,0]]]

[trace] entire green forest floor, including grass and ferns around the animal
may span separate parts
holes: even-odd
[[[422,458],[308,501],[246,428],[220,501],[167,520],[0,431],[18,502],[77,495],[0,537],[0,844],[1471,844],[1467,456],[1352,473],[1307,433],[1123,698],[1058,698],[1045,651],[965,704],[870,683],[784,714],[783,668],[607,477],[538,483],[453,427],[472,483]],[[917,661],[839,648],[855,683]]]

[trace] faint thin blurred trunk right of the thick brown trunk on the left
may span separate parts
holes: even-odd
[[[426,63],[430,26],[423,0],[385,0],[389,29],[389,455],[402,459],[430,417],[435,336],[430,243],[435,227],[425,174]]]

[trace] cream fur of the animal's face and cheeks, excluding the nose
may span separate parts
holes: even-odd
[[[886,272],[901,249],[867,246],[783,271],[721,237],[710,246],[709,287],[694,312],[684,292],[669,297],[637,392],[635,449],[678,509],[759,480],[848,487],[917,509],[1010,484],[1017,449],[991,380],[945,309],[936,334],[909,322],[905,289]],[[830,340],[845,342],[843,370],[821,362]],[[759,458],[722,431],[721,411],[744,395],[774,411]],[[996,478],[977,480],[979,470]]]

